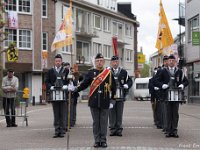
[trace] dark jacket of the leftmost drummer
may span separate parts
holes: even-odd
[[[68,84],[67,76],[69,74],[69,70],[62,67],[60,69],[60,72],[62,72],[61,76],[62,76],[63,85],[67,85]],[[56,82],[56,74],[55,74],[54,68],[51,68],[48,70],[46,80],[45,80],[47,92],[49,92],[51,86],[55,86],[55,82]]]

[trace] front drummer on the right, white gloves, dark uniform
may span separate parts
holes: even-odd
[[[166,137],[178,138],[177,127],[179,120],[179,102],[170,102],[168,100],[168,89],[184,88],[189,84],[183,71],[176,67],[176,58],[174,55],[168,57],[168,67],[162,69],[155,81],[156,86],[163,90],[163,97],[167,101],[167,131]]]

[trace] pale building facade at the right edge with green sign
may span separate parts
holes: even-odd
[[[185,59],[189,78],[188,96],[190,102],[200,103],[200,45],[193,43],[193,32],[200,29],[200,1],[185,1]],[[199,40],[199,39],[198,39]]]

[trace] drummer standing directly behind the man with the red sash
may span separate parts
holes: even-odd
[[[133,81],[129,77],[128,72],[119,67],[119,57],[111,58],[111,70],[116,83],[116,103],[109,112],[110,136],[122,136],[122,120],[124,101],[128,90],[131,88]]]

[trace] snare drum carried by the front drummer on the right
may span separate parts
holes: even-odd
[[[168,90],[168,101],[170,102],[184,102],[184,91],[180,88],[173,88]]]

